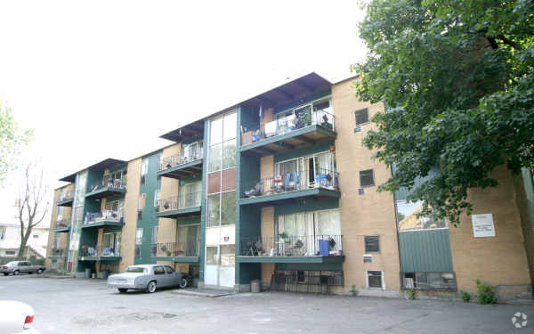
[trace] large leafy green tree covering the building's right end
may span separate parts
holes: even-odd
[[[368,57],[352,69],[360,99],[386,107],[364,139],[395,170],[379,190],[407,187],[407,200],[424,201],[423,216],[456,225],[472,211],[469,189],[497,186],[498,167],[532,165],[534,1],[366,6]],[[440,174],[426,177],[435,167]]]

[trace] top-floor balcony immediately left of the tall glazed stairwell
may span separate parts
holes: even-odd
[[[158,176],[174,179],[202,174],[203,149],[183,151],[180,154],[161,159]]]

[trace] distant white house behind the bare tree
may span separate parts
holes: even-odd
[[[28,239],[25,257],[46,257],[48,228],[34,227]],[[0,223],[0,257],[17,257],[20,247],[20,224]]]

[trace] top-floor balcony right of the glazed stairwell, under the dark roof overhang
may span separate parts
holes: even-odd
[[[257,156],[291,151],[298,147],[336,139],[335,117],[326,110],[295,110],[295,114],[241,134],[239,151]]]

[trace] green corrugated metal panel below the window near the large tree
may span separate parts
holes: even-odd
[[[401,272],[447,272],[452,269],[449,229],[399,232]]]

